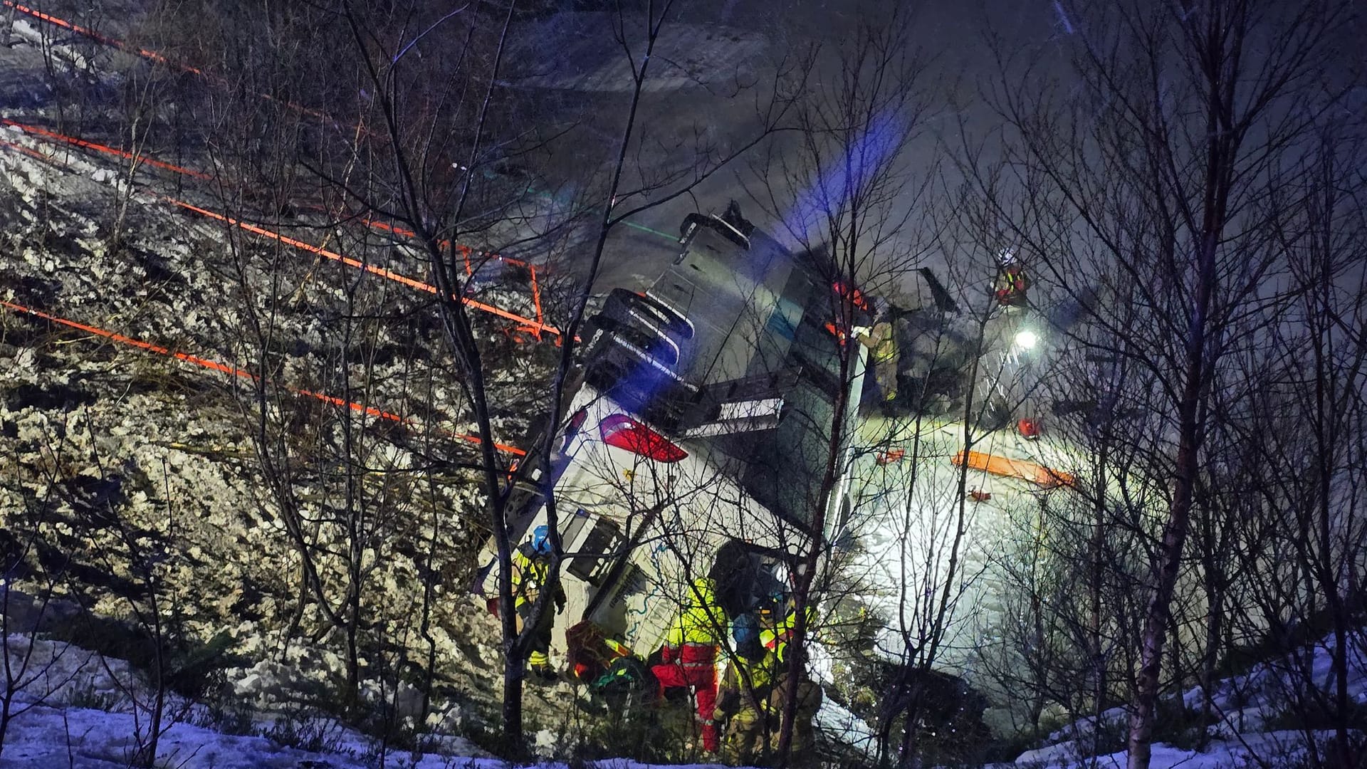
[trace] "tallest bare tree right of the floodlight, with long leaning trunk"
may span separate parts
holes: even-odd
[[[1131,712],[1137,769],[1150,759],[1217,372],[1251,343],[1259,323],[1249,319],[1275,304],[1273,276],[1285,261],[1260,218],[1286,161],[1342,97],[1327,56],[1352,10],[1223,0],[1058,8],[1072,33],[1058,64],[1076,86],[1040,85],[1053,60],[1003,53],[1003,71],[1025,74],[1002,79],[992,103],[1032,201],[1020,238],[1072,297],[1105,286],[1135,308],[1143,337],[1117,323],[1114,301],[1080,302],[1111,339],[1089,343],[1144,371],[1173,415],[1159,432],[1172,495],[1148,560]]]

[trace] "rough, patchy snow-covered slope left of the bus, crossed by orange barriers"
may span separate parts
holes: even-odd
[[[40,26],[22,15],[12,21],[8,45],[0,49],[0,70],[7,73],[0,83],[7,89],[0,118],[55,125],[62,105],[42,86],[44,51],[52,55],[52,67],[75,79],[74,70],[90,66],[90,55],[100,57],[96,70],[109,82],[118,79],[120,67],[135,66],[131,57],[109,49],[92,53],[89,41],[53,36]],[[107,120],[89,116],[89,125],[101,123]],[[33,546],[40,553],[36,560],[52,573],[75,575],[59,579],[52,592],[92,616],[133,621],[154,590],[161,608],[174,613],[178,642],[227,638],[230,654],[242,660],[223,670],[230,687],[226,696],[239,701],[250,717],[290,707],[302,691],[335,687],[344,669],[339,634],[320,632],[320,617],[312,610],[294,617],[299,564],[249,439],[243,419],[243,406],[250,408],[249,380],[205,361],[256,369],[260,359],[246,320],[253,312],[273,312],[242,298],[256,290],[256,298],[273,301],[279,311],[272,319],[279,342],[271,356],[279,365],[275,380],[338,397],[334,323],[344,309],[342,287],[351,268],[287,249],[276,270],[265,270],[260,260],[269,255],[272,241],[253,239],[163,197],[175,193],[213,208],[209,185],[145,166],[130,187],[120,159],[15,126],[0,129],[0,300],[107,333],[0,308],[0,530],[5,545]],[[194,164],[194,159],[180,161]],[[124,201],[127,213],[115,242],[115,213]],[[334,249],[343,248],[336,245],[343,237],[347,246],[369,244],[370,264],[421,276],[421,263],[405,261],[405,249],[395,248],[392,238],[377,238],[364,227],[320,234],[310,230],[316,222],[308,218],[280,216],[271,226]],[[236,250],[230,248],[234,242]],[[247,263],[245,276],[235,276],[232,253],[257,260]],[[280,282],[273,290],[272,281]],[[532,309],[525,291],[493,285],[481,285],[478,291],[480,300],[502,302],[510,312]],[[420,291],[380,278],[368,278],[360,296],[370,308],[385,302],[399,313],[425,301]],[[405,330],[402,323],[375,323],[369,331],[370,349],[383,354],[357,367],[357,380],[364,376],[365,387],[350,397],[413,417],[409,427],[417,428],[405,432],[383,419],[353,416],[370,446],[360,460],[370,472],[417,473],[414,468],[425,464],[422,452],[432,446],[420,439],[425,428],[437,435],[473,431],[465,400],[447,375],[450,359],[437,337]],[[499,350],[500,323],[484,324],[478,333]],[[556,354],[550,343],[544,346]],[[539,380],[545,356],[492,360],[493,386],[514,389]],[[420,379],[425,384],[414,387]],[[284,408],[298,402],[288,400],[288,390],[279,394]],[[331,423],[327,409],[334,405],[294,397],[305,398],[301,409],[324,409],[317,413],[319,424]],[[510,441],[521,436],[532,409],[513,398],[499,402],[506,408],[493,417],[496,432]],[[344,408],[339,410],[346,415]],[[268,413],[282,416],[269,406]],[[319,445],[335,438],[328,430],[320,430]],[[276,435],[290,432],[286,421],[278,424]],[[439,446],[448,458],[469,456],[465,441]],[[313,472],[297,476],[305,514],[321,517],[329,509],[325,493],[313,487],[325,488],[324,480]],[[384,676],[370,670],[385,661],[421,660],[431,644],[442,688],[431,725],[448,733],[483,728],[496,710],[500,653],[495,621],[465,591],[473,564],[469,554],[485,536],[476,519],[481,498],[459,472],[422,483],[422,494],[409,493],[413,486],[376,508],[390,516],[383,521],[385,535],[373,538],[361,554],[366,575],[361,621],[370,638],[383,639],[376,640],[379,653],[362,651],[361,688],[379,686]],[[338,551],[338,539],[324,534],[319,565],[323,579],[336,580],[344,568],[327,554]],[[37,595],[44,590],[42,576],[21,571],[12,579]],[[152,580],[159,587],[149,588]],[[432,617],[422,639],[417,618],[428,583]],[[305,628],[312,625],[313,638],[290,632],[299,620]],[[62,634],[70,636],[67,629]],[[388,677],[398,676],[390,672]],[[411,699],[401,691],[399,699],[405,696]],[[562,713],[569,696],[556,688],[532,691],[532,720],[539,713]],[[52,718],[60,722],[62,714],[49,705],[16,721],[11,738],[30,740],[27,733],[33,744],[51,743],[41,735],[51,738]],[[193,731],[189,724],[175,729]],[[133,732],[118,725],[108,733],[127,738]],[[12,744],[5,747],[7,758]],[[52,764],[34,758],[29,765]]]

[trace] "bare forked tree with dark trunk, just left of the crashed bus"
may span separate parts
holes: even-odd
[[[554,556],[550,566],[551,584],[526,621],[526,632],[518,632],[513,602],[511,557],[509,535],[510,490],[525,478],[528,468],[537,462],[521,462],[514,472],[511,462],[499,456],[495,443],[502,438],[493,428],[493,416],[500,410],[489,382],[489,350],[477,333],[469,304],[470,282],[465,270],[466,253],[461,244],[468,238],[487,242],[484,230],[498,223],[509,205],[489,190],[481,189],[477,171],[492,167],[500,152],[511,142],[495,133],[496,126],[509,125],[507,93],[498,86],[510,34],[515,4],[495,7],[476,4],[446,16],[431,16],[417,7],[395,11],[392,31],[377,31],[372,19],[357,7],[339,10],[350,29],[354,53],[361,70],[360,85],[365,101],[361,107],[366,126],[365,153],[377,163],[368,168],[370,178],[344,183],[349,203],[364,215],[379,215],[394,220],[413,233],[417,260],[431,275],[436,302],[432,307],[448,353],[454,359],[457,386],[474,423],[478,445],[478,479],[487,505],[485,520],[493,535],[499,569],[499,616],[502,621],[506,669],[503,677],[503,736],[510,747],[522,732],[522,679],[525,660],[534,628],[544,612],[550,610],[550,597],[555,592],[560,562],[565,557],[559,542],[558,514],[551,490],[543,490],[550,513]],[[641,123],[641,104],[647,93],[653,66],[652,53],[662,36],[667,34],[677,8],[671,1],[648,3],[642,14],[619,8],[615,21],[601,30],[617,41],[623,60],[629,64],[629,99],[611,141],[607,171],[599,186],[592,189],[584,204],[584,233],[586,241],[584,263],[576,265],[578,278],[562,308],[558,323],[559,360],[548,378],[550,398],[539,406],[554,419],[563,413],[570,394],[569,375],[574,361],[577,334],[582,328],[585,308],[599,274],[608,234],[626,218],[640,211],[686,194],[689,189],[709,178],[731,157],[759,142],[778,125],[791,99],[783,88],[757,97],[761,127],[756,135],[740,146],[720,152],[700,146],[682,170],[663,175],[645,172],[641,157],[651,144],[642,138],[647,129]],[[433,63],[417,56],[421,47],[448,41],[459,51],[451,62]],[[440,71],[431,73],[436,66]],[[786,70],[781,70],[786,75]],[[431,73],[431,74],[429,74]],[[446,105],[444,111],[422,109],[422,104]],[[534,137],[532,141],[537,141]],[[452,171],[452,168],[455,171]],[[343,182],[329,168],[320,167],[323,178]],[[637,186],[634,182],[638,181]],[[493,193],[498,194],[498,193]],[[491,216],[488,212],[493,211]],[[563,227],[563,224],[559,224]],[[543,237],[541,234],[529,235]],[[547,431],[554,435],[556,431]],[[550,442],[534,446],[533,456],[550,458]]]

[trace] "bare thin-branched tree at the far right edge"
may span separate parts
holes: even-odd
[[[1282,628],[1269,651],[1285,654],[1288,701],[1307,724],[1315,765],[1348,766],[1360,751],[1349,725],[1349,655],[1362,613],[1364,554],[1362,487],[1362,379],[1367,346],[1360,320],[1363,242],[1363,137],[1355,126],[1326,122],[1318,142],[1282,190],[1273,226],[1288,259],[1293,301],[1270,343],[1244,357],[1260,386],[1251,408],[1230,420],[1258,473],[1247,494],[1266,520],[1263,538],[1241,551],[1281,586],[1258,584],[1256,603],[1273,608],[1269,631]],[[1254,571],[1254,566],[1249,566]],[[1318,632],[1329,632],[1326,639]],[[1289,632],[1288,632],[1289,631]],[[1269,632],[1269,636],[1275,638]],[[1330,660],[1327,683],[1305,675],[1314,657]],[[1329,721],[1333,744],[1322,753],[1308,724]]]

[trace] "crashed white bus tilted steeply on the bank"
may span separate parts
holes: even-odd
[[[848,523],[845,473],[822,486],[838,412],[837,467],[849,465],[861,297],[828,257],[785,249],[734,204],[690,215],[681,245],[647,291],[614,290],[591,319],[554,458],[517,502],[514,546],[547,523],[540,490],[555,498],[567,598],[555,649],[591,620],[648,654],[700,576],[735,618],[782,595],[794,556]],[[492,553],[484,595],[496,594]]]

